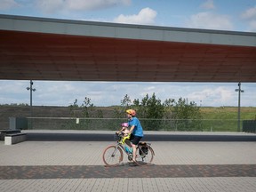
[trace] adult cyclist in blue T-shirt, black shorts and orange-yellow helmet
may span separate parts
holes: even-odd
[[[140,120],[136,117],[136,111],[133,109],[126,110],[128,117],[128,124],[130,128],[129,133],[131,133],[130,141],[131,143],[126,143],[132,148],[132,161],[135,162],[136,157],[136,145],[139,144],[141,138],[143,137],[143,128],[140,124]]]

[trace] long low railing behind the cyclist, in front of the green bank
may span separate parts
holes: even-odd
[[[32,117],[35,130],[118,130],[124,118]],[[236,132],[237,120],[215,119],[140,119],[145,131]],[[242,124],[242,122],[241,122]],[[29,126],[28,126],[29,127]]]

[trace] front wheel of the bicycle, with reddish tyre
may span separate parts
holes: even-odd
[[[119,147],[109,146],[105,148],[102,159],[107,166],[117,166],[123,161],[123,151]]]

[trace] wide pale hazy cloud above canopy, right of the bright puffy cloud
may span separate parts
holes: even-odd
[[[190,16],[188,28],[207,28],[232,30],[233,25],[228,15],[220,15],[212,12],[198,12]]]

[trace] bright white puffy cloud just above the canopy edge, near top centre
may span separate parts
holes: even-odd
[[[133,15],[119,15],[114,22],[118,23],[132,23],[132,24],[154,24],[157,12],[150,9],[144,8],[140,10],[138,14]]]

